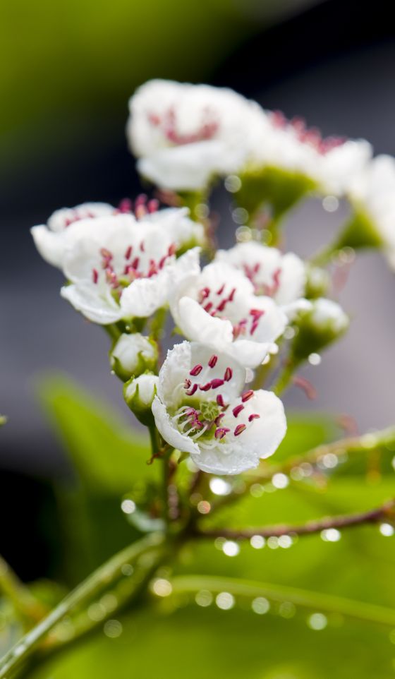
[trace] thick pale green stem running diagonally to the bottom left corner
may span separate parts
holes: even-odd
[[[78,587],[68,594],[46,618],[41,620],[30,632],[4,656],[0,663],[0,679],[4,679],[9,673],[14,672],[21,663],[25,662],[35,651],[40,642],[53,630],[65,615],[70,615],[75,608],[90,601],[104,588],[114,584],[122,575],[122,567],[135,560],[147,551],[157,549],[162,545],[162,534],[151,534],[142,540],[126,547],[121,552],[110,558],[104,565],[95,570]]]

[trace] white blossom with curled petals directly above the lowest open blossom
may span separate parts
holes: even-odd
[[[262,363],[287,324],[273,299],[255,296],[243,272],[222,262],[180,276],[170,306],[188,340],[234,356],[245,368]]]

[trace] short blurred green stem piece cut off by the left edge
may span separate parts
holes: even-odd
[[[35,598],[23,582],[20,581],[11,566],[0,556],[0,591],[10,599],[23,620],[37,622],[44,617],[47,609]]]

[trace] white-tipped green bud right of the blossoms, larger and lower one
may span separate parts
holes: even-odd
[[[346,332],[348,323],[348,316],[336,302],[324,297],[313,300],[310,311],[301,314],[296,324],[298,332],[291,347],[293,361],[303,361],[337,340]]]

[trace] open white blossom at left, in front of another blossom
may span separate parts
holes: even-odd
[[[150,316],[168,301],[171,277],[190,270],[197,253],[176,260],[176,244],[159,222],[127,214],[94,221],[95,229],[87,237],[78,234],[64,253],[63,272],[71,284],[61,295],[94,323]]]

